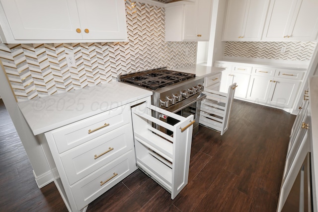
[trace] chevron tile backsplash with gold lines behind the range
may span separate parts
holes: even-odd
[[[164,41],[164,8],[126,0],[128,42],[0,44],[17,101],[116,80],[121,73],[195,64],[197,42]],[[69,68],[74,54],[76,68]]]

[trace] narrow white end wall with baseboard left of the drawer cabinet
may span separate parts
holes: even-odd
[[[35,181],[38,184],[39,188],[41,188],[53,181],[53,175],[51,174],[41,144],[33,136],[31,130],[29,129],[29,126],[27,125],[17,106],[1,63],[0,96],[2,97],[5,108],[12,119],[16,131],[18,132],[26,154],[29,157],[31,166],[33,168]]]

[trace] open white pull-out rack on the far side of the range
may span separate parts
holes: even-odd
[[[229,119],[237,83],[229,86],[228,93],[205,89],[206,98],[201,102],[200,124],[219,131],[221,136],[229,128]]]

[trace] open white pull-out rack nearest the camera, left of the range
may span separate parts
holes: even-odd
[[[175,119],[176,124],[161,121],[162,115]],[[137,167],[170,192],[171,199],[188,183],[193,118],[168,112],[147,101],[132,107]]]

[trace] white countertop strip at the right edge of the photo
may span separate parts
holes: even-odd
[[[312,128],[312,154],[314,164],[312,164],[312,172],[314,172],[316,188],[313,188],[318,193],[318,76],[312,76],[309,79],[309,103],[311,109],[311,124]],[[316,198],[316,205],[318,199]]]

